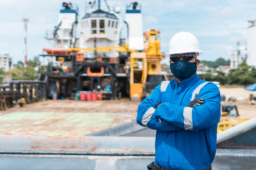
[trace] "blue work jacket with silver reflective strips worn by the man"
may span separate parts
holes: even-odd
[[[188,107],[197,98],[204,104]],[[156,109],[155,106],[160,104]],[[208,168],[216,153],[220,119],[219,88],[197,74],[163,81],[138,106],[137,123],[155,129],[155,163],[169,170]]]

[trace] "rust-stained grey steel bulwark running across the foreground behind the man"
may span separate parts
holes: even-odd
[[[1,135],[0,169],[145,170],[154,160],[155,137],[142,137],[148,128],[136,124],[112,129],[112,135],[119,136]],[[255,128],[256,118],[219,133],[221,148],[217,148],[212,169],[256,170],[255,140],[251,140]],[[250,149],[238,149],[245,146]]]

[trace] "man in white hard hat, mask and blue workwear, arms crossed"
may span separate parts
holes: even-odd
[[[167,54],[175,80],[163,81],[138,106],[137,123],[156,130],[155,162],[148,170],[211,170],[220,95],[196,74],[200,54],[193,34],[175,34]]]

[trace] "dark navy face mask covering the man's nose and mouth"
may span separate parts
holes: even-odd
[[[176,78],[184,80],[196,73],[196,62],[179,60],[171,63],[170,68]]]

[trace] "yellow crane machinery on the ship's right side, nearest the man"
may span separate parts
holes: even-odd
[[[143,86],[146,82],[151,84],[151,89],[162,82],[161,76],[161,60],[163,56],[160,51],[160,31],[157,29],[149,29],[147,33],[144,33],[146,39],[146,45],[144,52],[132,52],[130,59],[130,99],[138,100],[143,95]],[[138,62],[142,62],[142,68],[137,66]],[[140,82],[138,81],[140,80]]]

